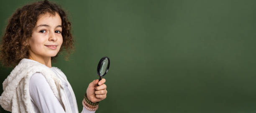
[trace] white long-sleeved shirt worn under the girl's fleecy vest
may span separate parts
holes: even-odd
[[[60,74],[54,70],[54,68],[50,69],[56,73],[56,75],[64,84],[64,91],[67,95],[67,98],[69,99],[69,104],[72,107],[72,111],[74,111],[74,103],[70,89],[67,87],[67,83],[61,79]],[[64,108],[56,96],[54,96],[51,87],[41,73],[35,73],[31,76],[29,81],[29,93],[35,113],[65,113]],[[82,101],[80,104],[82,104]],[[83,107],[81,113],[95,113],[95,111],[89,111]]]

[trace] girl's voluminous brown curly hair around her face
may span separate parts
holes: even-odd
[[[61,17],[62,27],[63,43],[59,53],[65,49],[67,51],[65,60],[68,59],[70,52],[74,50],[71,23],[59,5],[44,0],[18,8],[8,19],[8,25],[0,45],[0,61],[2,61],[3,66],[12,67],[17,65],[21,59],[28,58],[28,39],[32,36],[32,29],[36,26],[38,17],[46,13],[55,15],[55,12]],[[56,56],[51,57],[53,62]]]

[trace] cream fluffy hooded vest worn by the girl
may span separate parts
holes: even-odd
[[[61,73],[61,77],[67,82],[69,89],[72,89],[63,72],[56,67],[52,68],[55,68]],[[12,113],[34,113],[29,94],[29,80],[36,72],[40,72],[44,75],[51,90],[60,101],[66,113],[72,113],[68,98],[64,94],[64,86],[61,85],[61,81],[54,71],[44,64],[29,61],[28,59],[22,59],[3,82],[3,93],[0,96],[0,105],[5,110],[11,111]],[[73,90],[71,90],[71,94],[76,113],[78,113],[77,101]]]

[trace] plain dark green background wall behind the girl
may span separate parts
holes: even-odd
[[[0,1],[1,36],[8,17],[33,1]],[[79,111],[108,56],[97,113],[256,112],[255,0],[55,2],[69,14],[76,50],[53,66],[66,74]],[[11,70],[0,67],[0,83]]]

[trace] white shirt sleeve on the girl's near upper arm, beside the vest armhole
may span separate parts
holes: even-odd
[[[29,93],[32,102],[41,113],[65,113],[59,100],[41,73],[35,73],[29,81]]]

